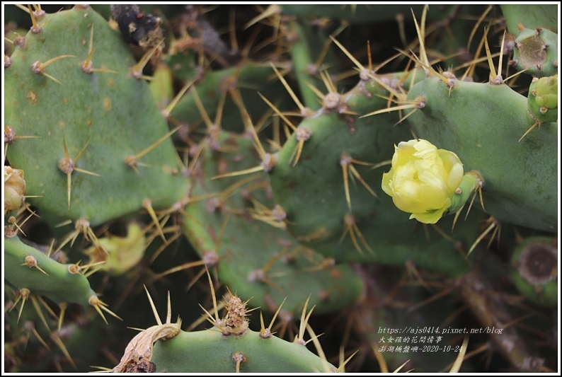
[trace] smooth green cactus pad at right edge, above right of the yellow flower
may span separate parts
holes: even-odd
[[[425,108],[408,122],[418,137],[457,153],[464,170],[484,180],[486,213],[500,221],[543,231],[558,226],[558,124],[519,139],[534,123],[527,98],[506,85],[437,77],[416,83],[408,99],[425,98]]]

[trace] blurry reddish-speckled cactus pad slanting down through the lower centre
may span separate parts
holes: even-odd
[[[249,199],[257,199],[270,209],[275,206],[266,196],[267,175],[257,173],[256,180],[224,197],[216,209],[212,207],[221,192],[251,178],[242,175],[210,180],[219,174],[220,168],[238,171],[259,165],[251,140],[227,132],[223,132],[221,139],[223,145],[236,146],[236,153],[212,153],[205,146],[199,163],[207,180],[197,183],[192,192],[192,197],[216,195],[185,209],[183,232],[197,253],[203,260],[216,253],[219,279],[242,298],[252,298],[253,304],[272,313],[285,298],[283,309],[297,313],[309,295],[310,305],[316,305],[314,313],[335,311],[353,303],[360,295],[362,282],[351,266],[334,266],[333,261],[299,245],[282,227],[251,216],[255,207]],[[248,187],[257,188],[248,192]],[[282,221],[274,225],[282,226]],[[272,265],[266,268],[268,264]]]

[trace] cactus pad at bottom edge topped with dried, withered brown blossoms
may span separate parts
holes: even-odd
[[[152,303],[152,299],[149,296]],[[308,301],[307,301],[308,302]],[[214,313],[207,320],[213,327],[197,332],[180,330],[181,320],[171,323],[171,303],[168,297],[166,323],[162,323],[153,305],[159,323],[140,332],[131,340],[114,372],[335,372],[336,367],[324,358],[306,349],[304,332],[299,332],[294,342],[275,337],[271,325],[265,327],[263,318],[260,331],[248,328],[247,301],[230,295],[225,304],[226,315],[219,318],[217,302]],[[303,308],[301,329],[308,327],[306,303]],[[308,313],[310,315],[311,311]],[[208,359],[212,354],[212,362]],[[187,357],[186,357],[187,356]]]

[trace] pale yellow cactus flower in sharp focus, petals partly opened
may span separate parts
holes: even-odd
[[[392,167],[382,175],[382,190],[410,219],[435,224],[451,207],[464,175],[459,157],[429,141],[401,141],[394,146]]]

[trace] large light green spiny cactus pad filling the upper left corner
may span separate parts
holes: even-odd
[[[169,129],[147,82],[131,76],[135,62],[120,33],[81,7],[46,15],[39,25],[40,33],[28,33],[25,47],[13,52],[4,83],[6,125],[16,135],[37,137],[14,142],[7,156],[13,168],[25,170],[28,195],[38,196],[30,204],[95,226],[142,209],[144,199],[156,209],[177,202],[188,182],[170,139],[139,158],[137,171],[125,163]],[[91,35],[93,71],[87,74],[81,63]],[[71,57],[33,73],[34,62],[61,56]],[[69,204],[67,174],[57,167],[65,158],[76,160]]]

